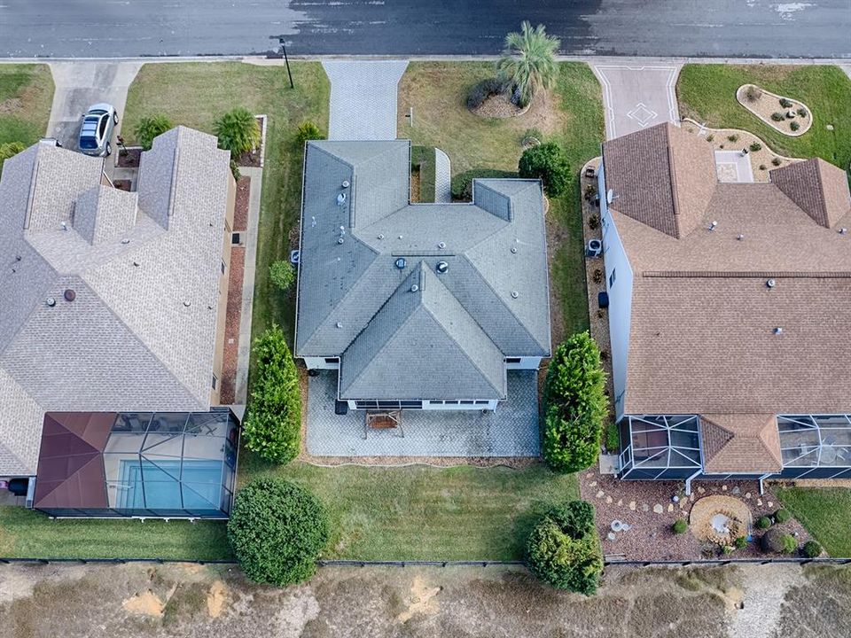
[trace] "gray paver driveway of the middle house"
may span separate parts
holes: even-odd
[[[408,66],[403,60],[325,60],[331,81],[328,139],[396,138],[396,93]]]

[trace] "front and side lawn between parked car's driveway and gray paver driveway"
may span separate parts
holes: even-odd
[[[280,325],[292,346],[294,298],[269,280],[269,266],[289,259],[290,239],[301,214],[303,149],[297,128],[313,121],[328,131],[330,84],[318,62],[292,62],[295,89],[283,66],[238,62],[144,65],[130,85],[123,134],[134,144],[140,118],[165,113],[176,124],[213,132],[215,118],[235,106],[269,116],[254,279],[252,333]]]

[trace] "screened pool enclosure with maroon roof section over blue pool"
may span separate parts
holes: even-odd
[[[55,517],[226,518],[238,421],[210,412],[49,412],[33,507]]]

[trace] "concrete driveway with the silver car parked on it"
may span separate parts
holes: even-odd
[[[113,131],[113,155],[105,162],[106,175],[113,176],[118,159],[116,136],[121,133],[127,89],[136,77],[142,62],[51,62],[56,90],[53,93],[48,136],[73,151],[80,136],[82,115],[98,102],[111,104],[118,111],[118,126]]]

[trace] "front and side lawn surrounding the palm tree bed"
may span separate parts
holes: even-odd
[[[550,243],[550,284],[563,316],[554,335],[586,330],[589,325],[585,269],[582,261],[582,211],[579,171],[599,155],[604,138],[600,86],[587,65],[559,65],[557,86],[535,102],[523,115],[513,118],[482,118],[465,105],[468,89],[494,74],[490,62],[415,62],[399,82],[397,130],[414,144],[436,146],[449,155],[455,181],[468,171],[496,170],[516,174],[521,141],[529,129],[537,129],[547,141],[565,150],[573,172],[571,187],[562,198],[550,202],[550,215],[558,221],[558,241]],[[413,126],[405,117],[413,107]]]

